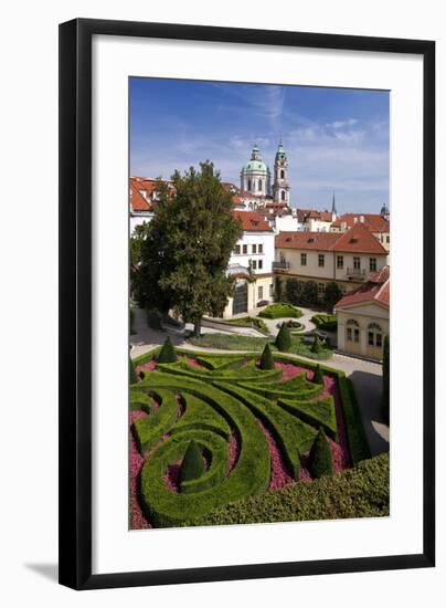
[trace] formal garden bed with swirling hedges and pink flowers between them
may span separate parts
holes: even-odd
[[[370,455],[352,387],[338,370],[320,366],[315,384],[316,366],[279,353],[272,370],[259,369],[259,353],[177,349],[172,364],[159,364],[158,353],[135,361],[145,376],[130,385],[132,528],[189,525],[286,485],[316,483],[309,453],[321,433],[334,475]],[[181,482],[191,442],[204,464]]]

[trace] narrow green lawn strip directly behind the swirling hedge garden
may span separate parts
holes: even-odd
[[[277,350],[274,346],[274,340],[266,337],[257,338],[235,334],[203,334],[199,338],[189,338],[189,343],[193,346],[221,348],[222,350],[262,350],[267,342],[269,342],[273,350]],[[311,346],[305,344],[300,336],[291,336],[291,349],[289,353],[317,360],[329,359],[333,354],[330,348],[322,348],[320,353],[312,353]]]

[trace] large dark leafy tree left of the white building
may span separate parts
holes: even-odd
[[[141,244],[136,297],[147,308],[173,307],[200,335],[203,315],[221,316],[233,292],[227,263],[242,227],[232,195],[212,163],[176,171],[157,186],[159,202]]]

